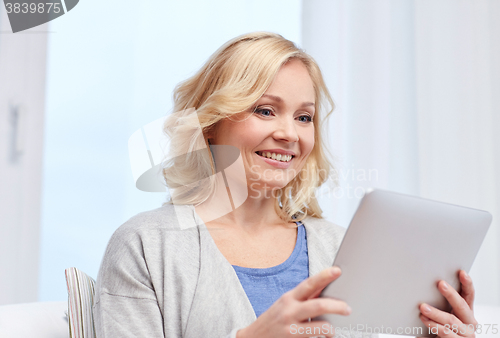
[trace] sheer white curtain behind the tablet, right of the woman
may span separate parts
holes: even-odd
[[[494,0],[313,0],[302,22],[337,106],[342,190],[322,198],[326,216],[347,226],[368,186],[488,210],[471,275],[476,303],[490,305],[500,305],[499,19]]]

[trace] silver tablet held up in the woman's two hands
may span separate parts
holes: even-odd
[[[329,321],[346,337],[360,332],[433,336],[420,321],[419,305],[450,310],[437,282],[443,279],[458,290],[458,271],[469,272],[491,219],[482,210],[367,192],[335,257],[342,275],[320,295],[347,302],[352,313],[315,319]]]

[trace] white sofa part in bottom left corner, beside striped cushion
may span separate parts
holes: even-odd
[[[68,338],[67,302],[0,306],[0,337]]]

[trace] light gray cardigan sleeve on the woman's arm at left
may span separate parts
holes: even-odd
[[[137,233],[117,231],[111,237],[97,278],[94,323],[97,338],[165,336]]]

